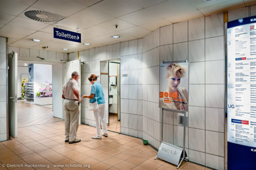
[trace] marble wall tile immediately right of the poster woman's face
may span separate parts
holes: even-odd
[[[205,62],[189,63],[189,84],[205,84]]]

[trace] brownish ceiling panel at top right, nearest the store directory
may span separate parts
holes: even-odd
[[[242,2],[241,2],[242,1]],[[210,7],[201,8],[199,9],[200,12],[202,12],[205,16],[224,12],[228,10],[238,9],[245,7],[245,4],[243,3],[243,0],[232,0],[225,3],[212,5]]]

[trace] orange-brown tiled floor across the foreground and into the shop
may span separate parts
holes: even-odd
[[[31,112],[44,114],[40,109],[29,108],[25,104],[19,107],[23,112],[18,114],[19,118],[26,116],[24,110],[29,115],[32,115]],[[45,117],[48,115],[50,109]],[[114,132],[109,132],[109,137],[101,140],[92,139],[96,129],[81,125],[77,132],[81,142],[69,144],[64,141],[64,126],[64,122],[60,121],[18,128],[18,137],[0,142],[0,169],[7,169],[4,164],[24,166],[8,169],[176,169],[175,165],[154,160],[157,152],[149,145],[143,145],[141,139]],[[28,164],[46,167],[25,167]],[[71,164],[87,167],[65,167]],[[208,168],[184,162],[179,169]]]

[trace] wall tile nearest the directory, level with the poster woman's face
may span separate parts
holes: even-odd
[[[224,84],[224,60],[205,62],[205,83]]]

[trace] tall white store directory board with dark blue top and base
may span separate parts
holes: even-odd
[[[256,16],[227,23],[229,169],[255,169]]]

